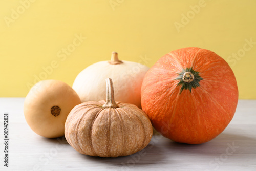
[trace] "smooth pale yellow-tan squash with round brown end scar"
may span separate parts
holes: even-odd
[[[56,138],[64,135],[68,114],[81,101],[77,93],[59,80],[36,83],[24,102],[24,115],[31,129],[40,136]]]

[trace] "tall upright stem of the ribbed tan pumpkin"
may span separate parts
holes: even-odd
[[[119,108],[114,99],[114,87],[111,78],[106,78],[106,102],[103,108]]]

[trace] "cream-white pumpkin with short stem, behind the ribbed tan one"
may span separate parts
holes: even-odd
[[[73,83],[82,102],[105,99],[105,79],[114,81],[115,99],[141,108],[140,90],[148,67],[131,61],[119,60],[112,52],[110,61],[100,61],[82,70]]]

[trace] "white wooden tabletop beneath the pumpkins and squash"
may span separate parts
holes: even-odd
[[[35,134],[24,98],[0,98],[0,170],[256,170],[256,100],[240,100],[222,134],[200,145],[154,135],[140,153],[118,158],[79,154],[65,138]],[[9,113],[9,167],[4,166],[4,113]]]

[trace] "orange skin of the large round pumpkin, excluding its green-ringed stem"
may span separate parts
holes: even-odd
[[[182,90],[179,73],[192,69],[201,77]],[[183,80],[184,83],[184,80]],[[195,82],[194,82],[195,83]],[[186,89],[187,88],[187,89]],[[160,58],[146,73],[141,88],[143,111],[163,136],[200,144],[218,136],[236,112],[238,87],[228,63],[216,53],[183,48]]]

